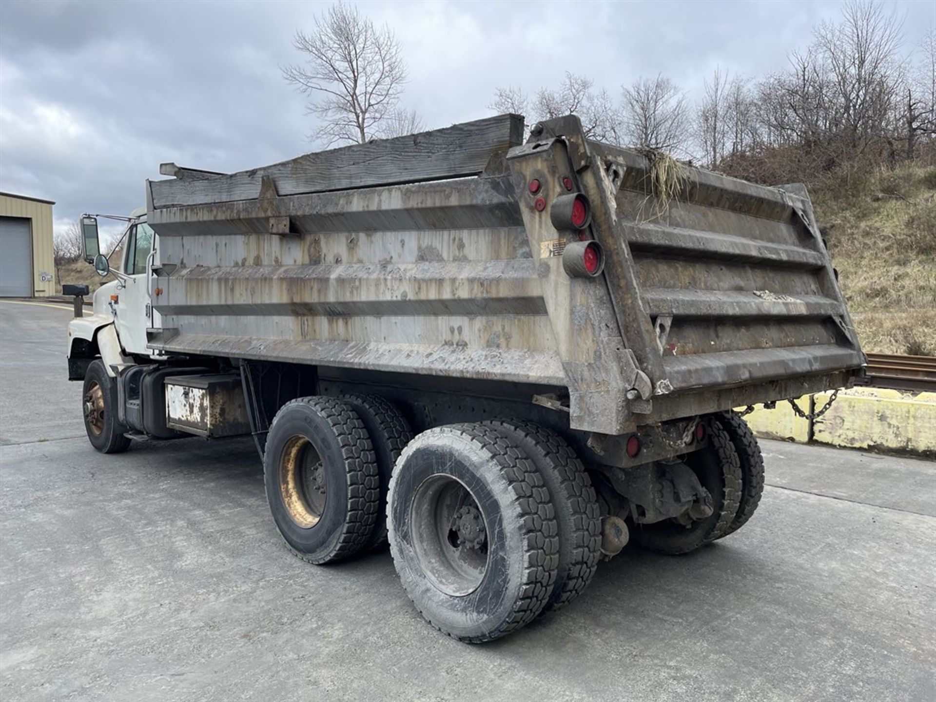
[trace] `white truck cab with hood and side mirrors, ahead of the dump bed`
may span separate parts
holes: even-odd
[[[159,313],[152,305],[154,264],[158,264],[157,237],[146,224],[146,209],[130,214],[122,237],[120,271],[111,270],[107,256],[100,253],[97,220],[81,218],[85,260],[94,263],[101,276],[113,274],[116,280],[95,290],[93,312],[76,317],[68,324],[69,378],[80,379],[90,361],[99,355],[111,377],[116,368],[132,357],[160,358],[147,348],[146,330],[159,327]]]

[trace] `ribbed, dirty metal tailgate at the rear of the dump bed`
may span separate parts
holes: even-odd
[[[862,366],[803,185],[683,167],[678,195],[663,204],[651,195],[652,154],[595,142],[589,150],[612,186],[625,243],[621,278],[608,285],[630,307],[622,328],[655,394]],[[615,294],[616,285],[629,289]]]

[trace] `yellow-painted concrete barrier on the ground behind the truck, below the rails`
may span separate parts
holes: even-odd
[[[798,398],[797,404],[808,413],[830,394]],[[757,405],[745,418],[764,438],[936,457],[936,392],[852,388],[841,390],[826,414],[812,421],[797,417],[789,402],[772,410]]]

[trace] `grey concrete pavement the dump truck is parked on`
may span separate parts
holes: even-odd
[[[0,301],[4,700],[936,699],[929,462],[765,441],[739,533],[628,548],[563,612],[471,647],[387,552],[291,556],[249,441],[95,453],[68,317]]]

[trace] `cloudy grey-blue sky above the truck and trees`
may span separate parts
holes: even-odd
[[[314,149],[305,98],[280,66],[327,4],[162,0],[0,2],[0,190],[125,213],[161,162],[233,171]],[[839,2],[360,2],[396,33],[403,104],[428,127],[490,114],[498,85],[534,91],[570,70],[617,95],[663,72],[695,93],[722,66],[782,67]],[[913,49],[936,3],[898,2]]]

